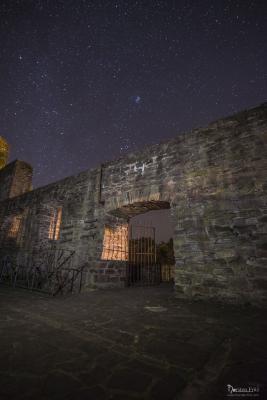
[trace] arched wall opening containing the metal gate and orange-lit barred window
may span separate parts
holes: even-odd
[[[105,226],[102,260],[126,261],[126,283],[150,286],[174,282],[174,252],[170,204],[145,201],[113,210],[113,225]],[[126,222],[127,221],[127,222]]]

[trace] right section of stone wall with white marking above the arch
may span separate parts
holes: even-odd
[[[103,171],[109,212],[170,203],[177,295],[266,298],[266,110],[182,134]]]

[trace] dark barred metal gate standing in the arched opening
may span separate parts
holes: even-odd
[[[128,286],[153,286],[161,282],[161,267],[157,263],[155,228],[130,225]]]

